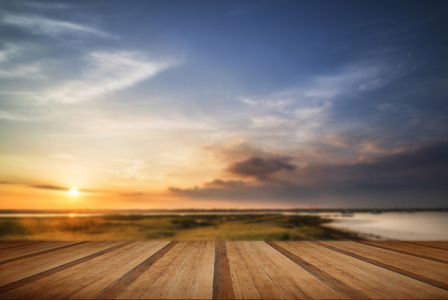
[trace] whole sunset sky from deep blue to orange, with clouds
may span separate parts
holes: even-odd
[[[0,2],[0,209],[448,207],[447,1]]]

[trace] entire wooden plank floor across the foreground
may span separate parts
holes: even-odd
[[[1,299],[448,299],[448,242],[0,242]]]

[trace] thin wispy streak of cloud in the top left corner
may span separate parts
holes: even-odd
[[[93,27],[68,21],[53,20],[38,15],[4,13],[0,17],[0,21],[3,24],[20,27],[36,35],[46,35],[50,37],[77,35],[83,37],[114,38],[113,35]]]

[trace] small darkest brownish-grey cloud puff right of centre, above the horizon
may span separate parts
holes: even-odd
[[[255,177],[257,179],[267,179],[269,176],[279,171],[292,171],[295,165],[288,163],[291,158],[261,158],[250,157],[244,161],[231,164],[227,171],[231,174],[243,177]]]

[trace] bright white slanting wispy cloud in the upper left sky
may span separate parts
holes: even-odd
[[[140,52],[92,52],[86,58],[89,70],[81,79],[61,83],[44,92],[43,101],[76,103],[129,88],[178,64],[150,60]]]

